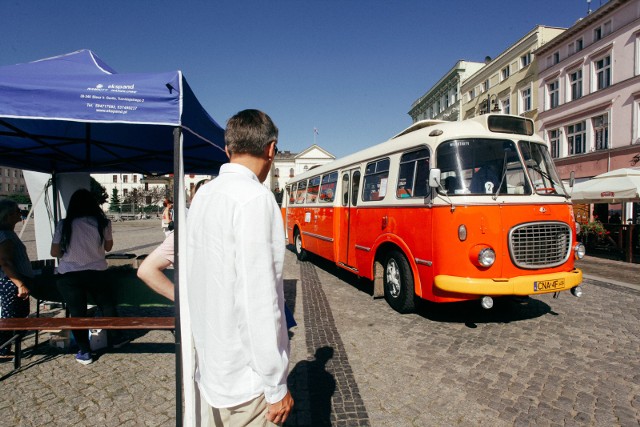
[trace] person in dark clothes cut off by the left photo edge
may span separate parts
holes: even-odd
[[[10,199],[0,200],[0,317],[3,319],[29,315],[29,286],[34,274],[27,249],[14,231],[21,221],[18,204]],[[0,331],[0,345],[13,335],[13,331]],[[10,344],[0,347],[0,361],[12,358]]]

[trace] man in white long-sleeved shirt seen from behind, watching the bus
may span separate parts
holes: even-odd
[[[185,259],[196,380],[217,426],[281,424],[293,407],[284,227],[273,194],[261,184],[277,138],[278,129],[261,111],[229,119],[230,163],[189,208]]]

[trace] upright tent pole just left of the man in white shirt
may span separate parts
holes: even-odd
[[[176,211],[182,210],[182,206],[179,206],[180,191],[181,191],[181,177],[182,165],[181,165],[181,152],[180,149],[180,127],[173,129],[173,201],[174,201],[174,243],[173,243],[173,268],[174,268],[174,302],[175,302],[175,316],[176,316],[176,427],[182,426],[182,334],[180,333],[180,253],[178,250],[180,242],[180,215],[175,215]],[[176,209],[176,207],[178,209]],[[186,302],[186,301],[185,301]]]

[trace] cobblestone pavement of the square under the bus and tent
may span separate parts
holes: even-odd
[[[131,221],[114,238],[116,251],[140,255],[162,232],[159,221]],[[298,322],[287,425],[638,426],[640,267],[587,258],[580,268],[579,299],[503,299],[489,311],[425,303],[399,315],[366,281],[287,252],[285,296]],[[9,415],[0,424],[175,425],[173,335],[133,338],[88,366],[41,344],[0,382]]]

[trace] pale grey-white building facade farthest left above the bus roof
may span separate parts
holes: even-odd
[[[482,62],[456,62],[444,77],[411,105],[408,114],[413,122],[426,119],[460,120],[461,84],[484,65]]]

